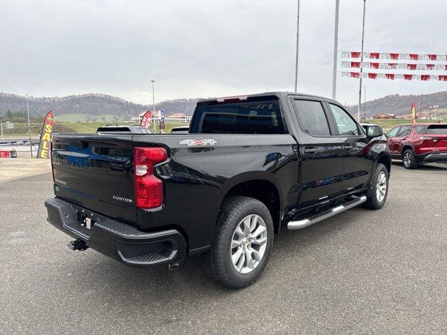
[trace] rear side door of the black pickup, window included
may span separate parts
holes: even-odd
[[[322,99],[293,96],[291,104],[301,130],[298,180],[300,207],[305,208],[342,191],[343,149]]]

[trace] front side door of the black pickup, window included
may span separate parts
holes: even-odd
[[[367,137],[363,128],[341,105],[328,103],[337,135],[343,148],[343,189],[345,192],[369,186],[372,160],[367,148]]]

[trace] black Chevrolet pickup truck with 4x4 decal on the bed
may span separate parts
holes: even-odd
[[[241,288],[281,227],[381,208],[390,153],[336,101],[279,92],[199,101],[186,134],[54,135],[52,171],[47,220],[74,250],[141,267],[207,252],[214,278]]]

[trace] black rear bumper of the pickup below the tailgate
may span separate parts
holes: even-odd
[[[142,232],[130,225],[112,220],[59,198],[45,200],[47,221],[87,246],[126,265],[148,267],[179,262],[186,253],[186,242],[175,229]],[[94,220],[91,230],[82,227],[78,218],[87,215]]]

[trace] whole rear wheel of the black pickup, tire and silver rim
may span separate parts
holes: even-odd
[[[263,202],[235,196],[223,200],[212,239],[214,279],[243,288],[261,275],[273,243],[273,222]]]

